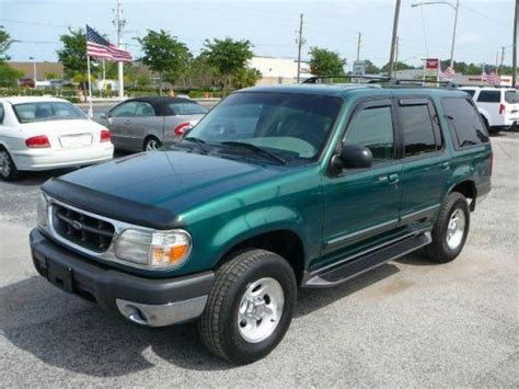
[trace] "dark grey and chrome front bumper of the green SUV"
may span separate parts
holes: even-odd
[[[30,234],[34,266],[53,285],[130,321],[163,327],[198,318],[215,281],[212,272],[177,278],[143,278],[94,263],[46,238]]]

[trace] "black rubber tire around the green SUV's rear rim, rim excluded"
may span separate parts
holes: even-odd
[[[457,210],[464,215],[464,230],[460,243],[455,248],[452,248],[447,242],[447,233],[451,217]],[[428,256],[438,263],[453,261],[465,244],[470,229],[470,220],[471,211],[465,196],[457,192],[450,193],[443,202],[438,219],[432,228],[432,242],[426,248]]]

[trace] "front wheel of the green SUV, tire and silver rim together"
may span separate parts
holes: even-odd
[[[200,337],[216,355],[247,364],[270,353],[292,320],[297,283],[281,256],[251,249],[238,253],[216,272]]]

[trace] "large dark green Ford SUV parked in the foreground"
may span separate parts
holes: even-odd
[[[420,248],[455,259],[491,173],[462,91],[245,89],[178,144],[47,181],[32,255],[57,287],[142,325],[197,321],[245,364],[281,341],[298,287]]]

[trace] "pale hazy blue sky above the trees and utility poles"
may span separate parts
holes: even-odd
[[[412,8],[423,0],[402,0],[399,23],[399,59],[420,65],[422,58],[450,57],[454,11],[446,4]],[[430,1],[430,0],[429,0]],[[448,1],[448,0],[446,0]],[[454,2],[455,0],[451,0]],[[124,43],[140,56],[136,37],[147,30],[171,32],[196,55],[206,38],[249,39],[255,55],[297,57],[297,30],[303,13],[304,46],[337,52],[350,64],[361,59],[388,62],[395,0],[264,0],[175,1],[122,0],[126,20]],[[505,46],[505,65],[511,65],[515,0],[460,0],[454,59],[495,64]],[[89,24],[116,43],[112,24],[116,0],[0,0],[0,25],[20,42],[12,60],[57,60],[59,35],[68,27]],[[500,60],[500,58],[499,58]]]

